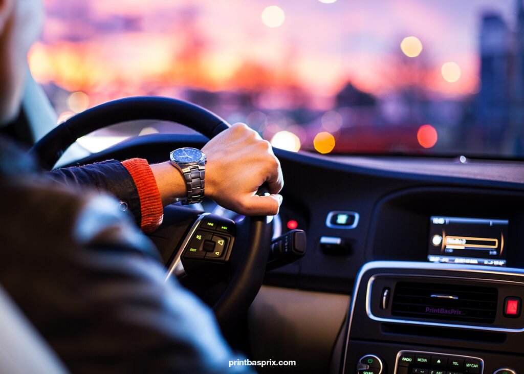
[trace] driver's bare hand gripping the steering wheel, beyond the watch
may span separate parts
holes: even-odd
[[[245,124],[234,124],[202,148],[205,166],[205,195],[224,208],[243,215],[275,215],[284,185],[280,162],[270,143]],[[271,195],[258,196],[267,183]]]

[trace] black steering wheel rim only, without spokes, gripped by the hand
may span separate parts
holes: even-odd
[[[69,118],[40,139],[29,152],[39,160],[42,168],[51,170],[79,137],[116,123],[139,119],[176,122],[210,139],[231,126],[220,116],[186,101],[157,96],[128,97],[95,106]],[[232,281],[213,306],[223,331],[232,327],[247,310],[264,279],[271,225],[266,216],[247,219],[247,248],[239,257]]]

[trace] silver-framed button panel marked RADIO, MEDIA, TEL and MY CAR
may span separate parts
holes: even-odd
[[[483,374],[484,361],[478,357],[401,350],[395,374]]]

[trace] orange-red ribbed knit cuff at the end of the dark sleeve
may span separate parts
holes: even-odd
[[[147,160],[132,158],[122,164],[135,181],[140,197],[140,227],[145,233],[154,232],[163,219],[163,205],[157,181]]]

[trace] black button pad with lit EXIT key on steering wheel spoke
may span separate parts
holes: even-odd
[[[224,262],[228,258],[235,235],[235,223],[222,217],[205,217],[196,227],[183,258]]]

